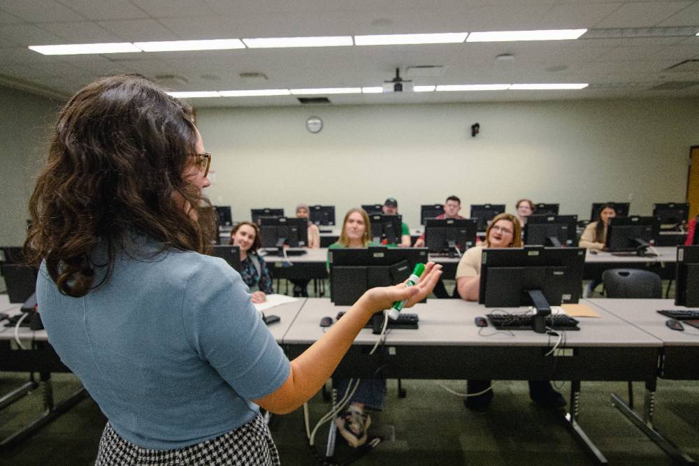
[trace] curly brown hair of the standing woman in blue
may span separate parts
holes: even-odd
[[[45,261],[59,291],[80,297],[108,279],[118,250],[147,256],[138,236],[158,242],[156,254],[209,252],[214,209],[182,177],[198,160],[197,140],[192,108],[142,76],[101,78],[78,91],[59,112],[29,201],[27,261]],[[98,245],[108,264],[94,284]]]

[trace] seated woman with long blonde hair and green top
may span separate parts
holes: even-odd
[[[328,249],[340,249],[344,247],[369,247],[380,246],[370,241],[369,216],[363,209],[352,208],[345,214],[343,229],[337,242],[333,242]],[[352,387],[354,384],[352,384]],[[350,390],[349,380],[336,380],[338,396],[342,398],[347,389]],[[347,411],[336,418],[340,435],[347,440],[350,446],[361,446],[366,443],[366,431],[371,425],[371,416],[365,409],[380,411],[384,407],[386,398],[386,381],[384,379],[361,379],[354,395],[349,400]]]

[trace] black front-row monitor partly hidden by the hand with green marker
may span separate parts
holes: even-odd
[[[338,306],[352,305],[370,288],[404,282],[427,258],[425,247],[329,249],[330,299]]]

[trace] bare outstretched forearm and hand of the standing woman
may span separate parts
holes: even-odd
[[[280,388],[253,401],[275,414],[286,414],[303,405],[333,374],[370,316],[388,309],[395,301],[408,299],[406,307],[421,301],[442,275],[440,269],[440,265],[428,263],[420,282],[410,288],[400,284],[366,291],[320,340],[291,361],[289,377]]]

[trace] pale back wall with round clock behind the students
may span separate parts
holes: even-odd
[[[310,115],[320,133],[305,130]],[[466,216],[471,203],[512,211],[521,197],[581,218],[593,202],[630,201],[647,215],[654,202],[684,201],[699,101],[203,108],[199,126],[214,154],[208,196],[235,220],[305,202],[336,205],[341,221],[393,196],[415,228],[421,203],[450,194]]]

